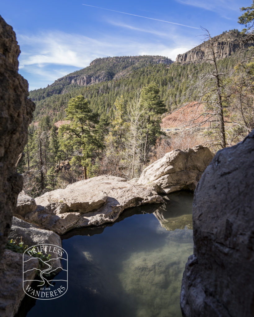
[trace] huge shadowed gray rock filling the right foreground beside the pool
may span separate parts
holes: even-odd
[[[185,267],[183,316],[254,314],[254,130],[220,150],[193,202],[194,254]]]

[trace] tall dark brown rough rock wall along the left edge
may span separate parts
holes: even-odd
[[[28,125],[35,109],[28,83],[18,74],[20,53],[12,27],[0,16],[0,258],[22,190],[16,165],[27,142]]]

